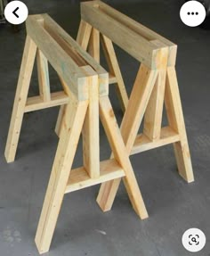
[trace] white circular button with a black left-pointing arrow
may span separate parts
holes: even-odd
[[[26,21],[28,17],[27,5],[20,1],[12,1],[4,9],[6,21],[18,25]]]

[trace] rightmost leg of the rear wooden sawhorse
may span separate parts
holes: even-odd
[[[179,173],[187,182],[193,182],[194,175],[190,159],[190,149],[174,67],[169,67],[167,69],[165,103],[169,125],[180,135],[180,142],[174,144],[174,152]]]

